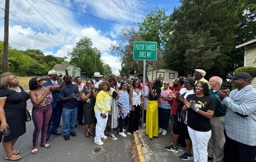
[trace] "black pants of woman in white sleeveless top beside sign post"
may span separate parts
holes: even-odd
[[[134,106],[135,111],[130,111],[129,115],[129,127],[128,132],[133,133],[133,131],[139,130],[139,120],[140,120],[140,105]]]

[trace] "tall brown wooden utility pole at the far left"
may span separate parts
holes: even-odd
[[[2,71],[7,72],[8,45],[9,45],[9,6],[10,0],[5,0],[5,29],[4,29],[4,53]]]

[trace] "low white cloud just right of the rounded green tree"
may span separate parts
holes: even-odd
[[[107,52],[104,52],[101,55],[101,60],[104,62],[104,64],[108,64],[111,67],[112,72],[115,75],[119,74],[118,70],[121,70],[121,61],[118,59],[118,57],[114,57]]]

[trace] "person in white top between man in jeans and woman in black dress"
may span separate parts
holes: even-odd
[[[81,102],[81,92],[85,88],[85,85],[82,83],[80,76],[75,77],[75,83],[78,86],[80,96],[77,96],[77,122],[78,124],[84,125],[83,123],[83,104]]]

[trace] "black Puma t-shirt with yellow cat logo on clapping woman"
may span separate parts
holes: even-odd
[[[201,111],[215,111],[214,99],[210,96],[197,97],[196,94],[190,94],[187,96],[187,100],[188,102],[195,100],[196,107]],[[211,130],[210,119],[203,117],[192,109],[188,109],[187,125],[199,132],[208,132]]]

